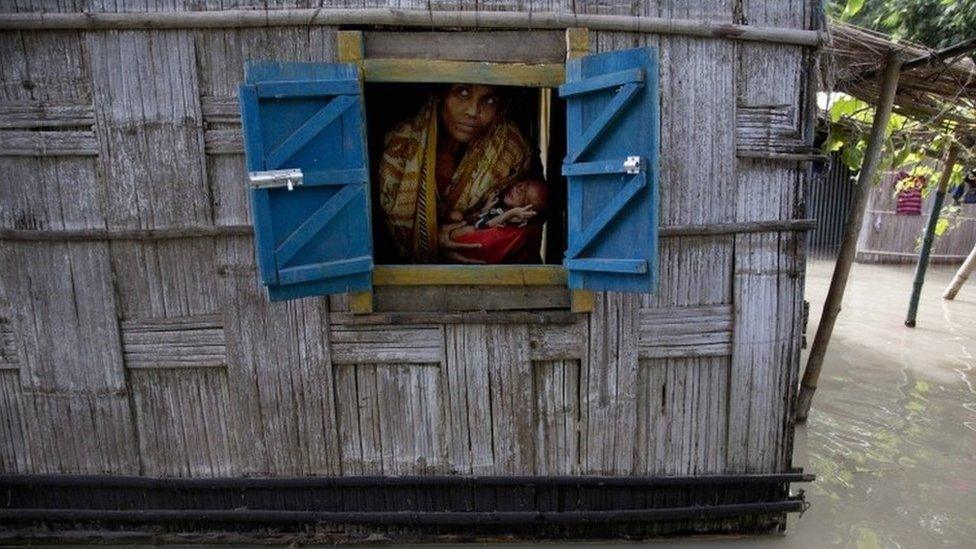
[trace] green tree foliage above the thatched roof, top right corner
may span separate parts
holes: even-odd
[[[944,48],[976,36],[976,0],[828,0],[836,19]]]

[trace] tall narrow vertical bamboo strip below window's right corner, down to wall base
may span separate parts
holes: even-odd
[[[599,292],[580,380],[581,473],[630,474],[637,419],[640,296]]]

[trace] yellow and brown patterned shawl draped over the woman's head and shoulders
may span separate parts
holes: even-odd
[[[431,99],[416,116],[387,134],[380,161],[380,207],[387,228],[400,255],[416,263],[437,261],[440,218],[472,209],[489,193],[524,176],[531,163],[522,134],[500,115],[468,145],[444,196],[438,196],[437,107]]]

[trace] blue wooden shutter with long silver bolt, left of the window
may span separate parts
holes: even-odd
[[[258,270],[270,299],[368,290],[373,243],[357,67],[253,63],[240,101]]]

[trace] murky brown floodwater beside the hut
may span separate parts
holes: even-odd
[[[832,270],[807,268],[810,341]],[[811,508],[779,545],[976,547],[976,280],[946,301],[955,267],[932,266],[912,329],[913,270],[854,265],[797,433]]]

